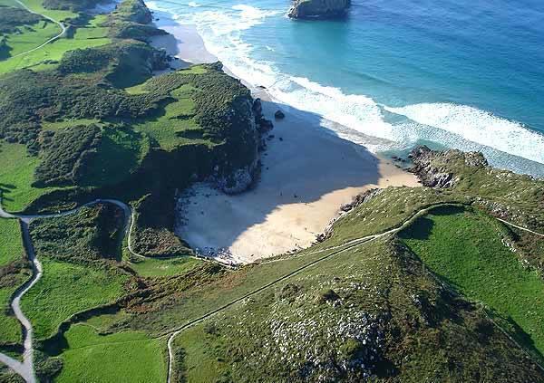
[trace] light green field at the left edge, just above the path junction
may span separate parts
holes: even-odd
[[[34,170],[39,159],[30,157],[21,144],[0,144],[0,189],[2,205],[10,212],[22,211],[35,198],[52,190],[52,187],[32,187]]]

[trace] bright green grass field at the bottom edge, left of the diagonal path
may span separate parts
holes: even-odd
[[[164,340],[141,332],[98,335],[92,325],[72,326],[65,334],[69,349],[61,354],[59,383],[166,381]]]

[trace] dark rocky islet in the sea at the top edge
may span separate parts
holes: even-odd
[[[328,19],[344,17],[351,0],[295,0],[289,17],[296,19]]]

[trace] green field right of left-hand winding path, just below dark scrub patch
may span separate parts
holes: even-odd
[[[50,337],[76,312],[113,302],[123,292],[126,276],[119,273],[44,257],[42,263],[44,276],[22,302],[36,339]]]

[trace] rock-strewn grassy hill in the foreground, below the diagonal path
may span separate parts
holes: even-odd
[[[373,360],[373,381],[542,378],[480,311],[389,241],[337,254],[183,331],[174,381],[362,381]],[[330,290],[339,298],[327,302]],[[373,329],[384,334],[377,347]]]

